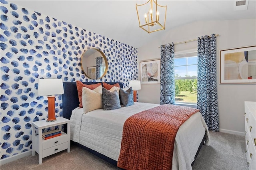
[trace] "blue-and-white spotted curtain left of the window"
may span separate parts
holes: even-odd
[[[175,104],[174,43],[161,45],[160,104]]]

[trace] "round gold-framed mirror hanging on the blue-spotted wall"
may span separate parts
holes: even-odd
[[[81,66],[90,79],[101,79],[107,73],[108,61],[104,53],[96,48],[90,48],[82,53]]]

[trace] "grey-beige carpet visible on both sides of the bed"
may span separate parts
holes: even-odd
[[[194,170],[247,170],[244,136],[210,132],[210,146],[203,146],[194,163]],[[90,152],[71,145],[66,150],[43,158],[38,164],[38,154],[0,166],[1,170],[118,170]],[[120,169],[119,169],[120,170]]]

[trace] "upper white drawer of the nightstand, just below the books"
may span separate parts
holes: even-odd
[[[52,146],[62,144],[64,142],[68,142],[68,135],[64,132],[61,132],[60,136],[56,136],[54,138],[50,138],[46,140],[42,139],[42,150],[45,150]]]

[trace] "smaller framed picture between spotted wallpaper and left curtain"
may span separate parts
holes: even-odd
[[[141,84],[160,84],[160,59],[140,61]]]

